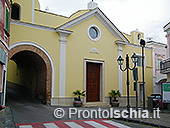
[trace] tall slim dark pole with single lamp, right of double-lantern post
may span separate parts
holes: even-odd
[[[145,110],[145,80],[144,80],[144,47],[145,40],[140,40],[140,44],[142,46],[142,83],[143,83],[143,110]]]

